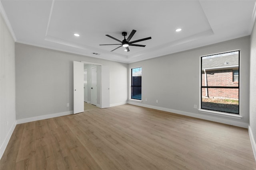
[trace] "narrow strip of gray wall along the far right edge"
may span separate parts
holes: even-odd
[[[251,34],[250,58],[250,129],[256,141],[256,24]],[[254,143],[255,145],[255,143]],[[256,155],[255,155],[256,156]]]

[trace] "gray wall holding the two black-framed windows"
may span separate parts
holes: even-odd
[[[198,109],[194,109],[194,105],[199,108],[200,56],[236,49],[241,49],[240,115],[243,118],[234,119],[199,113]],[[186,113],[213,121],[226,119],[242,122],[244,126],[249,123],[249,36],[129,64],[129,68],[139,66],[142,66],[142,103],[129,103],[172,109],[176,113]]]

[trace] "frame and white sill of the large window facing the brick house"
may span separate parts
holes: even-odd
[[[238,86],[202,86],[202,58],[203,57],[207,57],[207,56],[212,56],[212,55],[218,55],[218,54],[225,54],[225,53],[231,53],[231,52],[236,52],[238,51],[238,82],[235,82],[236,84],[238,84]],[[237,49],[237,50],[233,50],[233,51],[226,51],[226,52],[220,52],[220,53],[215,53],[215,54],[209,54],[209,55],[204,55],[204,56],[200,56],[200,109],[198,109],[198,111],[200,113],[208,113],[208,114],[212,114],[212,115],[220,115],[220,116],[224,116],[224,117],[232,117],[235,119],[241,119],[242,116],[240,115],[240,55],[241,55],[241,50]],[[232,83],[234,83],[234,73],[232,70]],[[202,89],[203,88],[237,88],[238,89],[238,113],[231,113],[231,112],[224,112],[224,111],[218,111],[218,110],[211,110],[211,109],[205,109],[202,108]]]

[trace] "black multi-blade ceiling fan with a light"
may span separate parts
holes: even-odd
[[[116,38],[114,38],[114,37],[112,37],[110,35],[106,35],[106,36],[108,36],[108,37],[110,37],[110,38],[120,42],[120,44],[100,44],[100,45],[120,45],[119,47],[113,49],[112,51],[114,51],[114,50],[116,50],[116,49],[118,49],[118,48],[123,46],[123,47],[126,48],[125,51],[127,51],[127,52],[130,51],[129,45],[130,46],[137,46],[137,47],[146,47],[146,45],[139,45],[139,44],[134,44],[134,43],[151,39],[151,37],[147,37],[147,38],[143,38],[143,39],[138,39],[138,40],[135,40],[135,41],[130,41],[132,39],[132,37],[133,37],[135,32],[136,32],[136,30],[133,29],[127,39],[125,39],[125,36],[127,35],[127,32],[122,32],[122,36],[124,36],[124,40],[123,41],[120,41],[119,39],[116,39]]]

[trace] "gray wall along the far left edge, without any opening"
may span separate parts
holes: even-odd
[[[0,16],[0,158],[16,125],[15,43]]]

